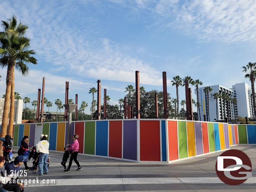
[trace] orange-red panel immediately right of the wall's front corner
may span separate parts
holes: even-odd
[[[177,121],[168,121],[169,161],[179,158]]]

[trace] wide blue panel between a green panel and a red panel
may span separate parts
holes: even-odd
[[[96,122],[96,155],[107,156],[108,129],[107,121]]]

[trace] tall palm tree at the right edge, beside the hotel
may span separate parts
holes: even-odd
[[[251,81],[251,92],[253,95],[253,112],[256,114],[256,101],[255,101],[255,90],[254,90],[254,82],[255,82],[255,76],[256,76],[256,62],[251,63],[248,62],[246,66],[243,66],[243,72],[246,73],[244,75],[245,78],[249,78]]]

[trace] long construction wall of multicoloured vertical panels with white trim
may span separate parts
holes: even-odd
[[[50,150],[63,151],[67,127],[66,122],[15,125],[13,145],[20,146],[28,135],[29,145],[35,146],[43,133],[49,135]],[[77,121],[71,126],[74,134],[79,135],[79,153],[137,162],[170,162],[238,143],[256,144],[256,125],[171,119]]]

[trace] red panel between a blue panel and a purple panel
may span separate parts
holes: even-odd
[[[122,121],[110,121],[109,156],[122,158]]]

